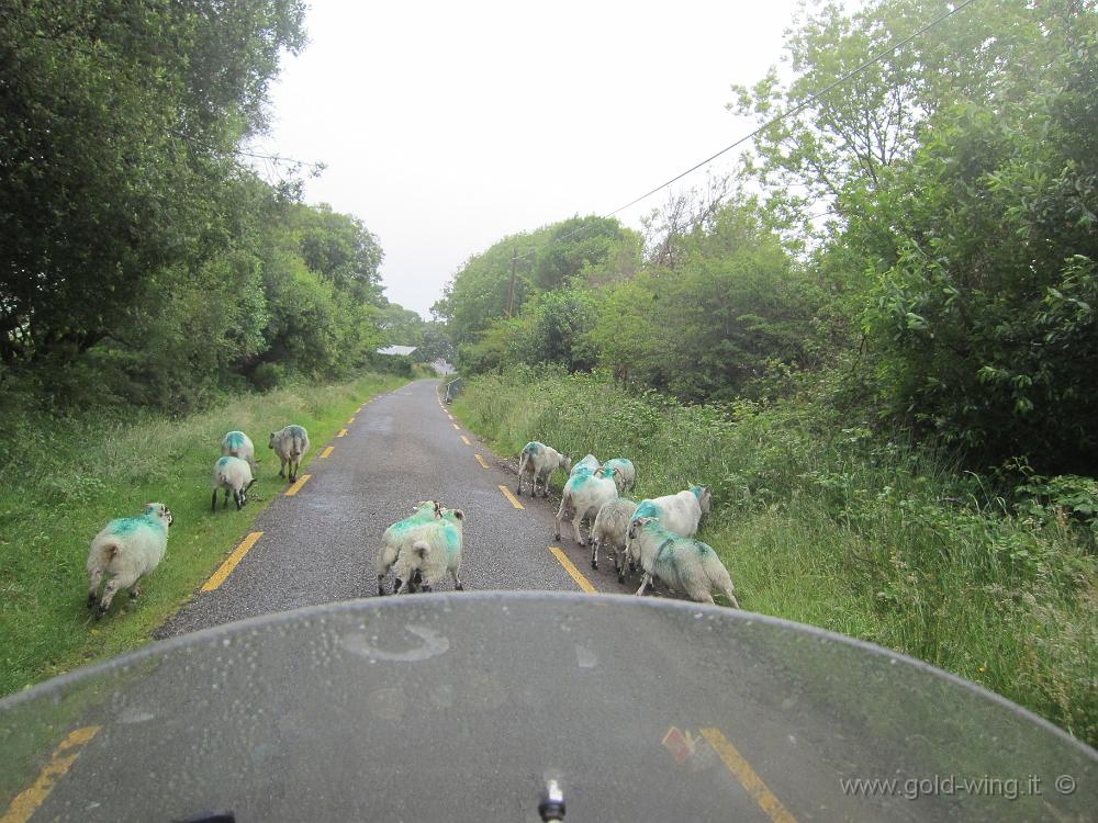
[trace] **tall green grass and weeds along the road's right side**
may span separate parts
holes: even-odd
[[[683,406],[590,375],[478,377],[455,413],[504,454],[628,456],[640,497],[712,486],[701,537],[744,608],[914,655],[1098,743],[1087,533],[1018,516],[942,455],[814,395]]]

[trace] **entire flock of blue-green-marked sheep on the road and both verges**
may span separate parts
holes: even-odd
[[[293,483],[301,459],[309,451],[309,432],[298,425],[272,431],[269,448],[281,461],[279,476]],[[224,489],[223,507],[228,507],[229,494],[239,510],[247,501],[247,491],[255,483],[255,447],[243,431],[229,431],[221,443],[222,456],[213,467],[211,508],[217,509],[217,492]],[[641,500],[639,504],[621,493],[636,484],[632,462],[615,458],[600,463],[593,454],[572,464],[572,460],[545,443],[530,442],[523,449],[518,463],[517,494],[529,476],[531,494],[537,496],[538,483],[542,495],[549,496],[549,477],[561,469],[569,472],[568,482],[557,511],[557,540],[562,520],[570,520],[580,545],[586,545],[582,521],[591,521],[587,537],[591,543],[591,566],[598,568],[600,548],[613,550],[618,582],[625,583],[626,567],[639,566],[643,572],[638,595],[662,580],[669,589],[685,591],[698,602],[713,602],[714,589],[724,593],[736,608],[732,580],[712,548],[695,540],[702,516],[708,514],[710,492],[705,486],[691,486],[677,494]],[[385,577],[393,572],[394,594],[430,591],[446,575],[461,590],[461,529],[464,514],[444,508],[434,500],[418,504],[411,517],[390,526],[378,550],[378,594],[385,593]],[[168,544],[171,511],[163,503],[149,503],[138,517],[109,522],[91,542],[88,553],[88,608],[99,602],[96,617],[111,607],[121,588],[130,597],[141,594],[141,578],[155,570],[164,559]],[[102,595],[99,589],[103,586]]]

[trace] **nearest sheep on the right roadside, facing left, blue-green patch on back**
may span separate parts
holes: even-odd
[[[696,602],[713,602],[713,589],[722,591],[733,609],[740,608],[728,570],[713,548],[694,538],[668,531],[652,517],[638,517],[629,526],[630,551],[640,557],[645,576],[638,595],[652,584],[663,580],[669,588],[681,589]]]

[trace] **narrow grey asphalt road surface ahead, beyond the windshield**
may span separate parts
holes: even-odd
[[[452,419],[438,388],[435,380],[411,383],[365,405],[344,437],[326,442],[317,437],[314,458],[302,471],[311,475],[305,485],[267,508],[255,526],[262,537],[228,578],[197,594],[157,636],[377,596],[381,535],[419,500],[440,500],[464,512],[461,578],[467,590],[579,590],[549,551],[559,545],[596,589],[628,591],[629,586],[617,583],[612,560],[601,562],[596,572],[584,549],[567,537],[553,541],[552,500],[527,495],[518,498],[523,508],[515,508],[500,489],[513,492],[515,474]],[[330,454],[321,458],[328,446],[334,447]],[[262,482],[279,478],[265,476]],[[391,587],[391,576],[386,583]],[[452,585],[447,578],[438,589]]]

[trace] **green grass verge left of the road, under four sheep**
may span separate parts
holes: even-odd
[[[137,412],[126,421],[102,413],[9,420],[0,442],[0,696],[148,642],[284,491],[268,432],[305,426],[307,464],[360,403],[405,382],[367,374],[295,384],[179,419]],[[211,512],[210,475],[231,429],[255,442],[258,480],[242,511],[219,501]],[[97,622],[85,605],[91,539],[149,500],[172,511],[167,554],[141,598],[121,593]]]

